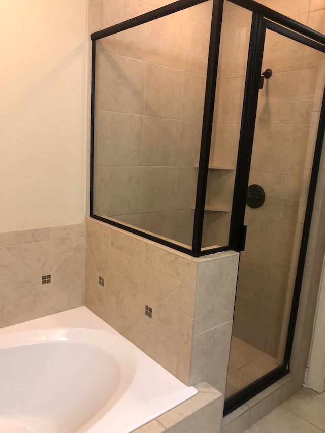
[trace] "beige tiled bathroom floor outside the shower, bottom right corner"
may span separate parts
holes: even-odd
[[[245,433],[325,432],[325,393],[301,388]]]

